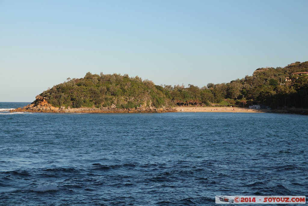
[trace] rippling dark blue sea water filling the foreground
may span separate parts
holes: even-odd
[[[215,195],[308,196],[307,143],[301,115],[2,111],[0,205],[214,205]]]

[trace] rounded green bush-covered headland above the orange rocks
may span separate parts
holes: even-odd
[[[84,78],[67,79],[67,82],[53,86],[41,96],[55,107],[107,107],[117,108],[170,106],[170,93],[150,80],[127,74],[91,74]]]

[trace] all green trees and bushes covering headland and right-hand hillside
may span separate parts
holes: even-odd
[[[246,107],[264,104],[271,108],[288,106],[308,108],[308,61],[295,62],[284,68],[259,68],[253,76],[229,83],[213,84],[199,88],[189,84],[155,85],[150,80],[128,77],[127,74],[91,74],[84,78],[67,79],[41,96],[55,107],[107,107],[117,108],[236,105]],[[286,77],[289,81],[285,81]]]

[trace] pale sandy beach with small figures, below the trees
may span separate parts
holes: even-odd
[[[178,112],[268,112],[267,109],[249,109],[240,107],[176,107]]]

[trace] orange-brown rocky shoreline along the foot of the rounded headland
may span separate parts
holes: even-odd
[[[153,106],[149,107],[137,107],[129,109],[118,109],[114,104],[108,107],[100,108],[71,108],[71,107],[54,107],[48,103],[45,97],[37,95],[35,101],[28,104],[25,107],[19,107],[10,112],[59,112],[59,113],[141,113],[141,112],[176,112],[175,108],[165,107],[165,108],[155,108]]]

